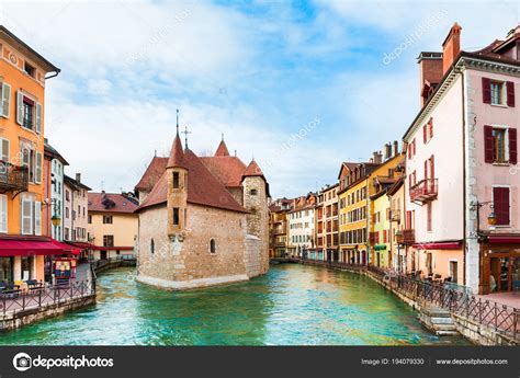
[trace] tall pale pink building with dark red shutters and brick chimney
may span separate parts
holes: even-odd
[[[419,57],[423,82],[442,79],[421,92],[423,106],[404,136],[410,251],[422,276],[481,294],[516,290],[520,28],[475,53],[461,51],[460,38],[455,24],[442,53]]]

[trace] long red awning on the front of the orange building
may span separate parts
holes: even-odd
[[[78,250],[60,243],[54,239],[30,240],[9,239],[0,240],[0,256],[34,256],[53,254],[78,254]]]

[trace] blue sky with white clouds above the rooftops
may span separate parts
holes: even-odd
[[[61,69],[45,136],[93,191],[133,191],[180,126],[199,154],[222,135],[271,195],[337,181],[419,111],[420,51],[504,39],[518,1],[0,1],[0,24]]]

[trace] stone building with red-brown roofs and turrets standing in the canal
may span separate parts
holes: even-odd
[[[155,157],[136,185],[142,283],[188,289],[247,280],[269,268],[269,185],[259,165],[182,148]]]

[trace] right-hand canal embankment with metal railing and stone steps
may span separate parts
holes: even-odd
[[[287,262],[365,275],[408,303],[421,324],[436,335],[457,333],[477,345],[520,345],[518,308],[374,266],[299,259]]]

